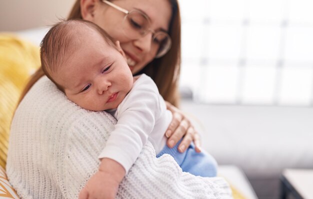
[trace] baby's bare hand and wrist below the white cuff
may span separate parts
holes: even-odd
[[[115,198],[118,185],[125,176],[121,164],[109,158],[102,158],[99,170],[87,181],[79,192],[79,199]]]

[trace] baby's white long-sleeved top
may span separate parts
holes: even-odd
[[[156,154],[164,147],[172,115],[150,77],[140,75],[117,109],[108,112],[117,124],[99,158],[113,159],[127,172],[147,140]]]

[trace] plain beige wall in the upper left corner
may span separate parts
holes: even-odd
[[[66,18],[74,0],[0,1],[0,31],[18,31],[52,25]]]

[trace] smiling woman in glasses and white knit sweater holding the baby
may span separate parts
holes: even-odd
[[[152,77],[174,115],[168,130],[169,146],[174,146],[183,134],[181,151],[192,139],[198,145],[198,136],[190,122],[171,105],[178,103],[180,22],[177,2],[128,0],[112,3],[77,1],[69,18],[82,18],[99,25],[120,41],[133,74],[144,72]],[[170,49],[166,32],[172,40]],[[7,175],[24,198],[77,198],[79,190],[98,168],[97,155],[105,147],[115,121],[105,112],[78,108],[45,77],[39,79],[41,76],[39,70],[32,77],[16,109],[11,125]],[[116,197],[229,197],[229,188],[223,179],[203,179],[182,173],[170,156],[155,158],[151,149],[150,143],[142,149],[120,183]]]

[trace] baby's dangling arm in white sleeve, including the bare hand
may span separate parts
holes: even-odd
[[[144,80],[144,81],[143,81]],[[150,85],[152,83],[152,85]],[[138,157],[159,117],[157,87],[151,79],[141,79],[117,111],[117,124],[99,158],[99,170],[87,181],[79,199],[114,198],[125,173]],[[135,91],[134,91],[135,90]]]

